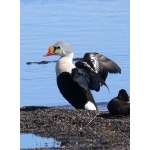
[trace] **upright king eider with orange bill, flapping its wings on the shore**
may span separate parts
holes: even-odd
[[[86,53],[73,64],[73,49],[63,41],[50,46],[44,56],[59,55],[56,63],[57,85],[63,97],[75,109],[98,110],[90,90],[99,91],[109,73],[121,73],[120,67],[99,53]],[[108,87],[107,87],[108,88]]]

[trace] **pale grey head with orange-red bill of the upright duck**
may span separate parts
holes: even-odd
[[[45,57],[51,55],[66,56],[71,53],[73,53],[71,46],[67,42],[59,41],[54,45],[50,46],[48,48],[48,52],[44,56]]]

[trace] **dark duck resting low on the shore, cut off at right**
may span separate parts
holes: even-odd
[[[118,96],[109,101],[107,108],[112,115],[130,115],[130,97],[121,89]]]

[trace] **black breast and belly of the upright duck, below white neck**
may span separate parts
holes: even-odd
[[[85,104],[90,101],[97,108],[90,90],[85,90],[73,81],[70,73],[63,72],[57,77],[58,88],[63,97],[76,109],[85,109]]]

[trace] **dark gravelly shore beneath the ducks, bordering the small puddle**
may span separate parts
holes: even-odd
[[[20,109],[20,132],[52,137],[61,142],[60,148],[40,150],[130,149],[130,117],[111,116],[107,111],[23,107]]]

